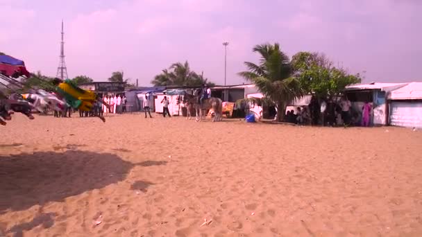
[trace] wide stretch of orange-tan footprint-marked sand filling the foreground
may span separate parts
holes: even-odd
[[[420,131],[73,116],[0,128],[0,236],[422,236]]]

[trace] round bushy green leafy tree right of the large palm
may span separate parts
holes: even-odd
[[[359,73],[351,75],[344,69],[333,67],[332,62],[321,53],[296,53],[292,67],[303,90],[322,100],[339,96],[346,86],[361,81]]]

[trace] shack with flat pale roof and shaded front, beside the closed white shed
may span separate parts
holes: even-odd
[[[351,116],[355,121],[362,119],[362,107],[369,102],[372,107],[371,125],[387,125],[388,107],[387,93],[404,87],[407,83],[378,83],[351,85],[346,87],[344,94],[351,101]]]

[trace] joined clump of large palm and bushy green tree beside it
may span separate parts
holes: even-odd
[[[260,62],[244,62],[248,70],[238,74],[258,87],[264,95],[262,103],[276,105],[278,121],[297,98],[312,94],[319,100],[330,100],[346,86],[361,82],[359,73],[334,67],[321,53],[298,52],[290,60],[278,43],[256,45],[253,52],[260,55]]]

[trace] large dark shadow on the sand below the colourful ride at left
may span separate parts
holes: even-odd
[[[162,166],[166,161],[132,164],[109,153],[81,150],[0,156],[0,214],[65,198],[126,179],[134,166]]]

